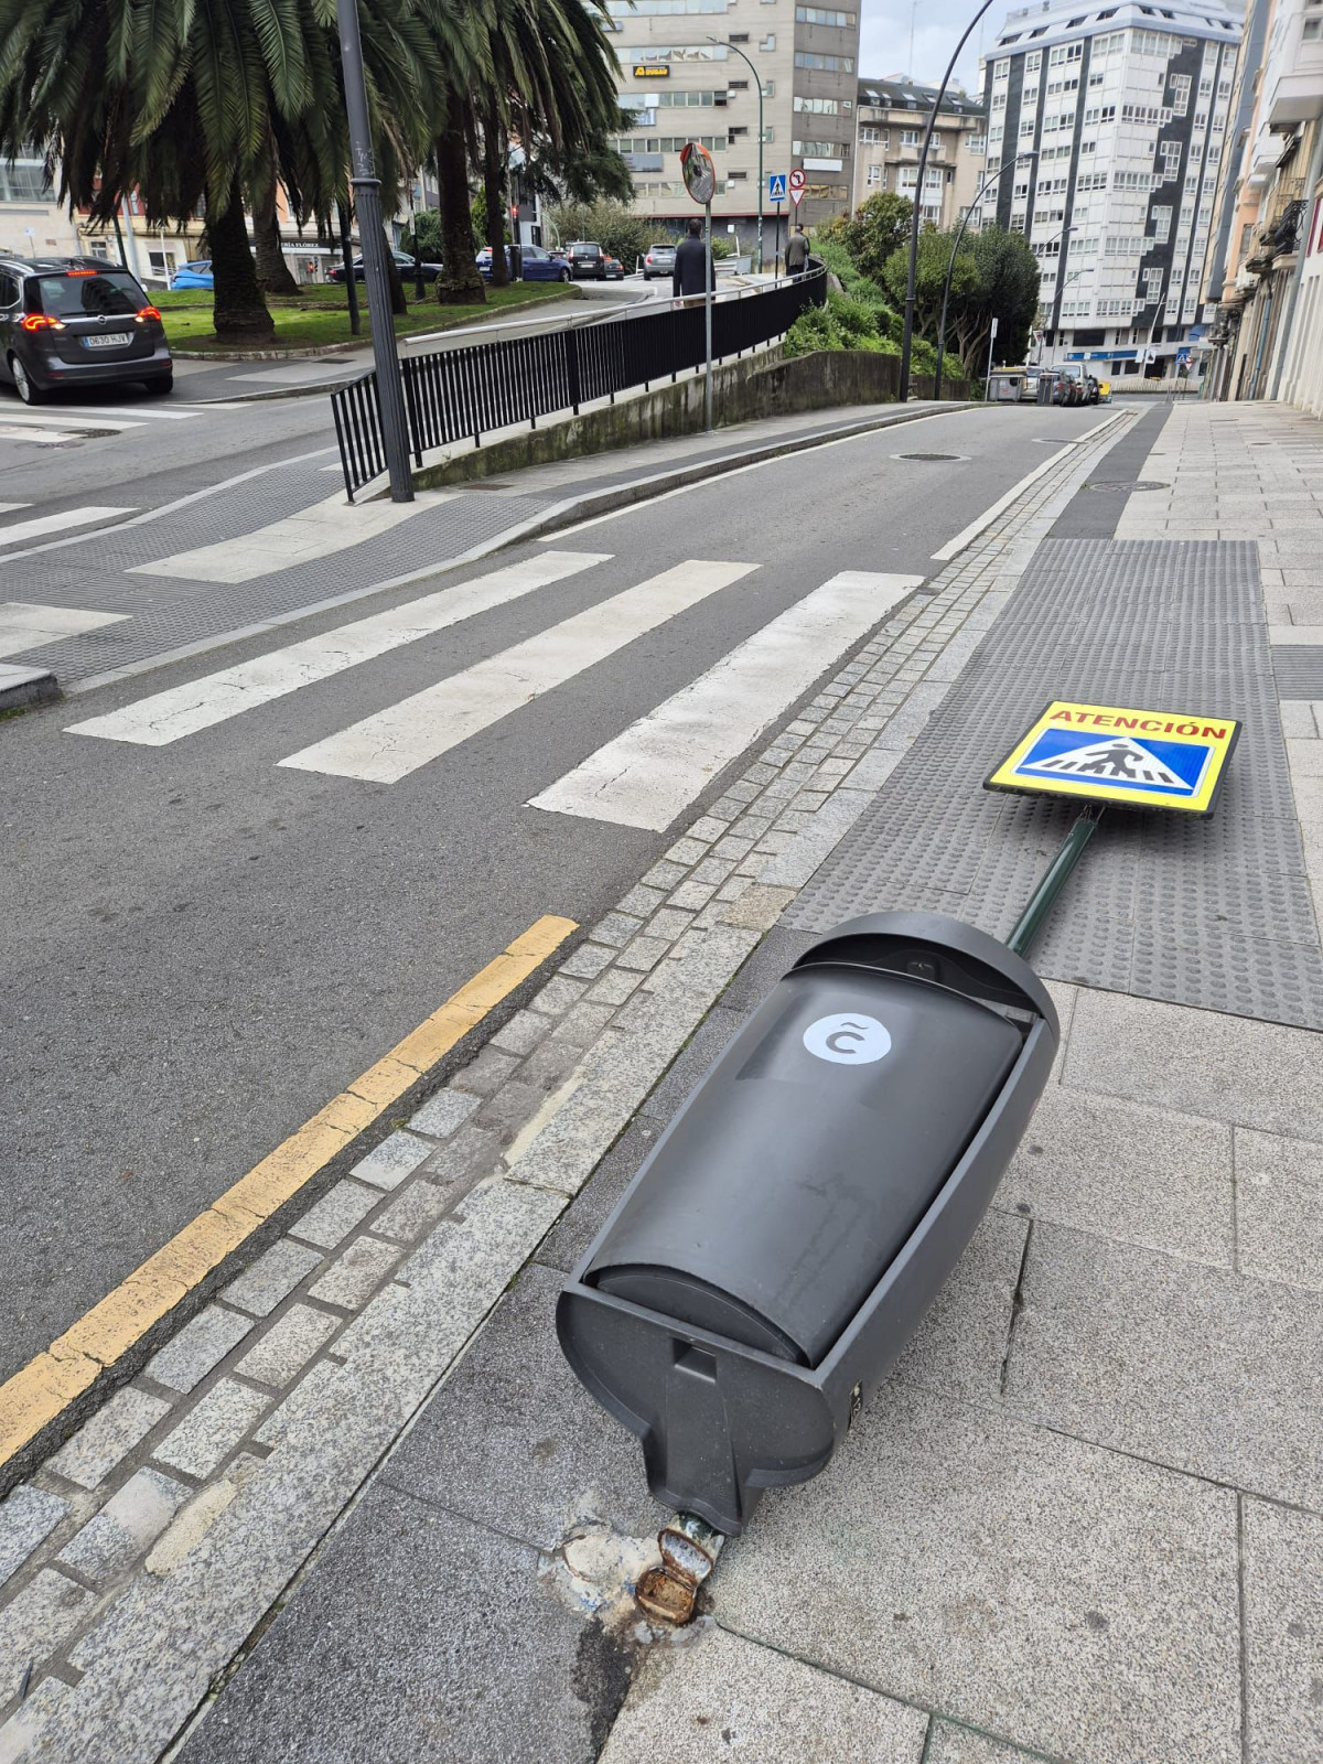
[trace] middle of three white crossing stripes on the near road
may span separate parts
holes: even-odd
[[[399,783],[450,748],[489,729],[552,686],[656,630],[677,612],[757,570],[753,563],[690,559],[552,624],[450,679],[293,753],[280,766]]]

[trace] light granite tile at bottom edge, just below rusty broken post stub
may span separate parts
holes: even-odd
[[[598,1764],[919,1764],[928,1716],[709,1625],[639,1667]]]

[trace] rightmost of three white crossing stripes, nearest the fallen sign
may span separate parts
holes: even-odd
[[[831,577],[529,806],[662,833],[921,582],[864,570]]]

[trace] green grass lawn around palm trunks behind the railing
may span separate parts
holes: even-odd
[[[573,284],[559,282],[515,282],[512,288],[489,288],[487,302],[480,307],[441,307],[429,289],[427,298],[415,300],[411,284],[404,293],[409,298],[409,310],[395,319],[395,335],[407,337],[411,332],[446,330],[453,325],[467,325],[473,319],[499,314],[505,307],[527,307],[540,300],[573,298]],[[180,288],[175,293],[153,296],[166,325],[166,337],[175,349],[222,349],[233,351],[236,346],[222,340],[212,328],[212,293],[206,288]],[[363,319],[362,340],[370,337],[367,323],[367,289],[360,286],[358,303]],[[266,296],[266,305],[275,319],[275,342],[261,348],[275,349],[316,349],[332,342],[353,342],[349,335],[349,307],[342,288],[321,284],[309,288],[298,300],[279,300]]]

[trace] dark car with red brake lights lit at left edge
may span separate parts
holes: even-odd
[[[161,314],[127,270],[101,258],[0,256],[0,379],[25,404],[60,386],[141,381],[169,392]]]

